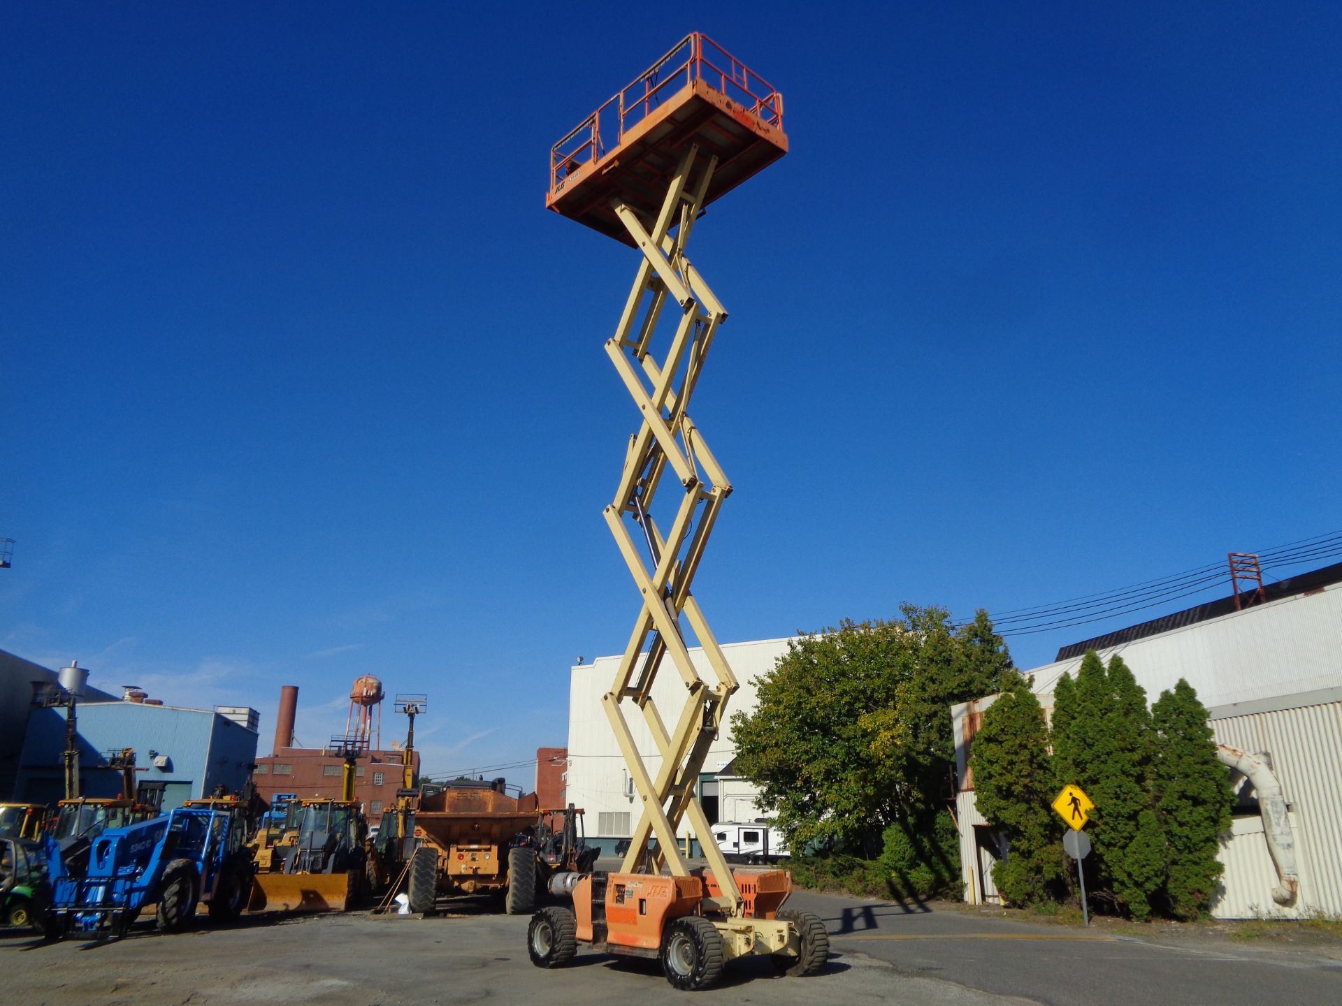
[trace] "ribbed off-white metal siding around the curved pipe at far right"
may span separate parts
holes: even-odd
[[[1268,752],[1291,807],[1300,869],[1298,904],[1282,908],[1268,893],[1276,871],[1259,830],[1237,833],[1223,848],[1225,893],[1212,907],[1221,919],[1260,913],[1299,917],[1342,915],[1342,703],[1303,706],[1212,720],[1216,742]]]

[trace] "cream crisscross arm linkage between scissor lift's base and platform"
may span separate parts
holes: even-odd
[[[715,168],[715,157],[701,154],[698,146],[687,148],[651,229],[629,207],[612,204],[643,252],[643,262],[620,325],[605,349],[643,424],[629,440],[620,486],[605,508],[605,520],[643,597],[643,609],[615,684],[601,702],[643,803],[623,871],[632,873],[641,867],[659,872],[666,865],[672,876],[687,876],[676,830],[688,820],[722,892],[718,899],[706,899],[715,904],[705,907],[730,916],[739,913],[741,893],[695,799],[695,785],[709,746],[722,726],[727,699],[738,683],[690,593],[718,510],[731,492],[726,473],[688,413],[714,335],[727,317],[686,258],[686,244]],[[658,362],[651,351],[652,335],[663,313],[675,310],[680,311],[675,334],[666,358]],[[650,511],[668,467],[684,496],[671,527],[663,533]],[[641,546],[632,528],[640,528]],[[703,648],[717,684],[710,685],[699,676],[686,645],[682,620],[688,622]],[[644,644],[648,644],[646,659]],[[668,657],[687,692],[671,730],[652,700],[652,684]],[[625,718],[627,702],[643,712],[656,743],[660,767],[655,775],[635,744]],[[654,836],[656,850],[648,853],[648,838]]]

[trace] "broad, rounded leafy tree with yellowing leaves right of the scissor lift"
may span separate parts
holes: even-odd
[[[960,629],[941,608],[900,612],[789,642],[754,711],[731,718],[737,766],[793,849],[888,848],[907,864],[895,826],[933,876],[954,876],[958,846],[937,825],[949,818],[950,704],[996,691],[1011,655],[982,612]]]

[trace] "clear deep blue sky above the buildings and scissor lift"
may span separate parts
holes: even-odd
[[[0,647],[266,751],[280,684],[314,743],[364,672],[431,695],[429,771],[564,743],[637,612],[637,260],[545,212],[549,148],[690,30],[792,142],[691,245],[721,640],[1342,526],[1335,5],[15,3]]]

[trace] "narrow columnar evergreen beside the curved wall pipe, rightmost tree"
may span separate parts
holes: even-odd
[[[1165,829],[1170,913],[1196,919],[1212,905],[1221,834],[1231,826],[1229,770],[1216,757],[1206,707],[1182,677],[1151,706],[1158,738],[1151,791]]]

